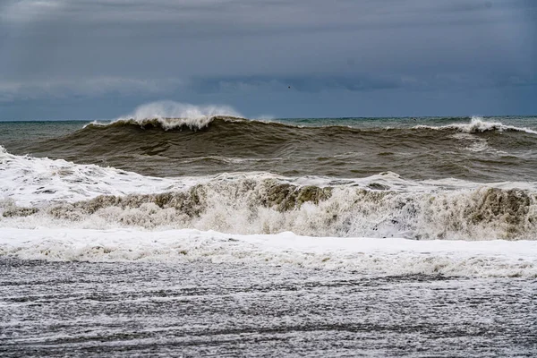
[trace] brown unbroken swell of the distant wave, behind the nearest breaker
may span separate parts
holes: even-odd
[[[537,132],[528,128],[532,123],[532,118],[270,123],[228,116],[130,118],[90,124],[61,138],[41,136],[4,146],[13,154],[114,166],[142,175],[266,171],[362,177],[392,171],[412,179],[527,181],[537,175]]]

